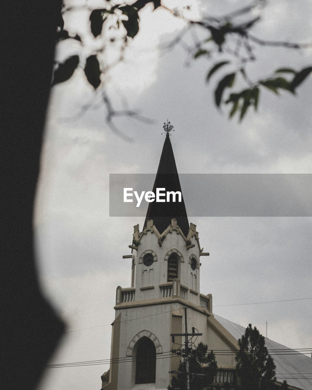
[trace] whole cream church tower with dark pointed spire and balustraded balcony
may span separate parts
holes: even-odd
[[[167,127],[168,129],[168,127]],[[156,188],[181,191],[169,132],[154,182]],[[117,287],[112,324],[110,369],[102,375],[105,390],[166,390],[180,357],[173,356],[170,333],[188,324],[207,333],[211,294],[200,294],[200,250],[196,225],[188,222],[181,202],[150,202],[142,231],[135,225],[131,287]],[[206,334],[207,338],[207,334]],[[176,343],[183,344],[182,337]],[[224,347],[224,344],[222,344]]]

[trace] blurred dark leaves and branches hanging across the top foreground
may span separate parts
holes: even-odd
[[[194,60],[199,58],[206,58],[209,62],[214,62],[214,58],[220,58],[222,61],[215,62],[209,68],[206,76],[206,82],[211,82],[215,78],[215,74],[222,72],[222,78],[216,82],[214,88],[214,99],[216,107],[230,106],[229,118],[237,114],[239,121],[245,117],[249,107],[253,107],[255,111],[258,108],[259,98],[263,90],[269,90],[275,94],[280,94],[282,90],[291,94],[296,94],[298,87],[303,83],[312,71],[312,67],[305,67],[300,70],[291,69],[289,67],[273,70],[270,76],[259,80],[250,80],[247,74],[247,64],[256,60],[254,54],[254,46],[273,46],[284,47],[288,49],[298,50],[311,48],[312,44],[298,44],[283,41],[264,41],[250,33],[250,30],[261,20],[261,16],[254,16],[255,10],[259,7],[263,8],[266,5],[266,0],[256,0],[247,7],[240,8],[230,14],[216,18],[206,16],[203,20],[190,20],[183,16],[176,10],[170,10],[161,5],[160,0],[138,0],[133,4],[111,5],[106,2],[106,8],[90,9],[90,32],[94,39],[101,39],[104,23],[113,23],[109,28],[113,28],[121,32],[122,27],[122,45],[120,46],[120,56],[117,62],[123,60],[123,51],[127,46],[129,39],[134,39],[140,30],[140,15],[139,11],[145,7],[146,4],[152,3],[154,9],[163,7],[173,16],[183,18],[186,21],[188,29],[197,28],[204,35],[204,39],[197,39],[192,47],[188,47],[191,53],[191,58]],[[187,7],[186,7],[187,8]],[[188,7],[190,8],[190,7]],[[66,8],[63,6],[63,11],[71,11],[73,7]],[[245,21],[241,21],[245,18]],[[239,21],[238,21],[239,20]],[[59,20],[59,30],[57,32],[57,41],[64,41],[65,39],[75,39],[83,42],[79,35],[70,36],[67,30],[64,30],[64,21],[62,17]],[[203,35],[203,34],[201,34]],[[98,38],[99,37],[99,38]],[[94,89],[103,86],[101,83],[101,75],[109,69],[109,66],[101,66],[99,55],[105,50],[105,39],[103,39],[103,46],[97,50],[96,53],[90,55],[84,66],[84,73],[88,82]],[[169,45],[174,46],[181,42],[182,32]],[[110,38],[111,43],[115,43],[114,38]],[[252,43],[252,44],[251,44]],[[224,57],[229,56],[229,59]],[[79,64],[77,55],[67,58],[64,62],[58,63],[53,78],[53,84],[64,82],[68,80],[74,70]],[[224,74],[224,69],[230,69]],[[239,83],[237,83],[239,80]],[[237,84],[241,83],[246,86],[237,90]],[[105,95],[106,103],[108,97]]]

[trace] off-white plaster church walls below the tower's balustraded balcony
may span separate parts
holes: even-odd
[[[133,337],[142,330],[148,330],[154,333],[158,338],[162,352],[166,353],[172,348],[170,337],[170,319],[172,316],[171,308],[177,309],[174,314],[183,316],[184,326],[184,310],[179,303],[167,303],[161,305],[151,305],[144,307],[127,308],[116,310],[116,316],[121,313],[121,335],[119,357],[125,357],[127,348]],[[207,316],[201,312],[197,312],[192,308],[187,308],[188,332],[191,332],[192,326],[197,328],[202,337],[197,338],[196,344],[200,341],[208,345],[209,350],[229,349],[229,346],[207,325]],[[184,341],[184,339],[183,339]],[[156,355],[160,357],[161,354]],[[216,356],[218,365],[235,366],[234,356]],[[119,390],[166,390],[170,381],[170,358],[156,359],[156,383],[153,385],[135,385],[135,362],[119,363]]]

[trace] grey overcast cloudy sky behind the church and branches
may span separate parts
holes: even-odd
[[[192,4],[194,17],[203,9],[195,0],[184,3]],[[206,13],[220,15],[245,2],[203,4]],[[179,34],[184,22],[163,9],[151,12],[149,6],[140,16],[140,32],[108,83],[116,106],[124,96],[131,109],[154,120],[115,121],[133,142],[108,128],[102,105],[75,120],[93,96],[82,69],[53,89],[35,215],[43,288],[70,331],[53,363],[110,357],[116,287],[130,287],[131,281],[130,261],[122,255],[130,253],[133,225],[139,223],[142,230],[144,217],[109,217],[109,174],[156,173],[165,137],[161,126],[167,118],[176,129],[170,140],[180,173],[312,174],[311,78],[296,97],[263,92],[257,114],[251,111],[242,124],[229,121],[227,113],[214,106],[215,84],[205,83],[213,62],[199,59],[188,64],[188,54],[179,45],[170,51],[158,49]],[[308,41],[311,16],[310,0],[298,0],[296,8],[290,0],[271,1],[254,34]],[[83,34],[87,12],[66,18],[72,32]],[[67,53],[88,55],[79,51],[76,41],[63,46],[59,58]],[[258,78],[278,67],[301,69],[312,62],[311,50],[257,49],[256,54],[250,72]],[[72,119],[65,121],[68,117]],[[189,215],[189,221],[197,225],[200,245],[210,252],[202,261],[200,292],[213,294],[214,312],[243,326],[252,323],[264,335],[268,321],[270,339],[292,348],[312,347],[312,300],[225,306],[312,297],[311,218]],[[107,369],[108,365],[50,369],[42,389],[99,389]]]

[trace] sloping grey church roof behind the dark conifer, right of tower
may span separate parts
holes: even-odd
[[[245,328],[234,322],[231,322],[223,317],[214,314],[215,319],[235,337],[240,339],[245,334]],[[283,350],[280,353],[272,353],[274,363],[276,365],[276,378],[278,382],[287,380],[288,385],[300,388],[302,390],[312,389],[312,358],[297,353],[291,348],[287,348],[282,344],[267,339],[265,344],[268,350]],[[307,379],[305,379],[305,377]]]

